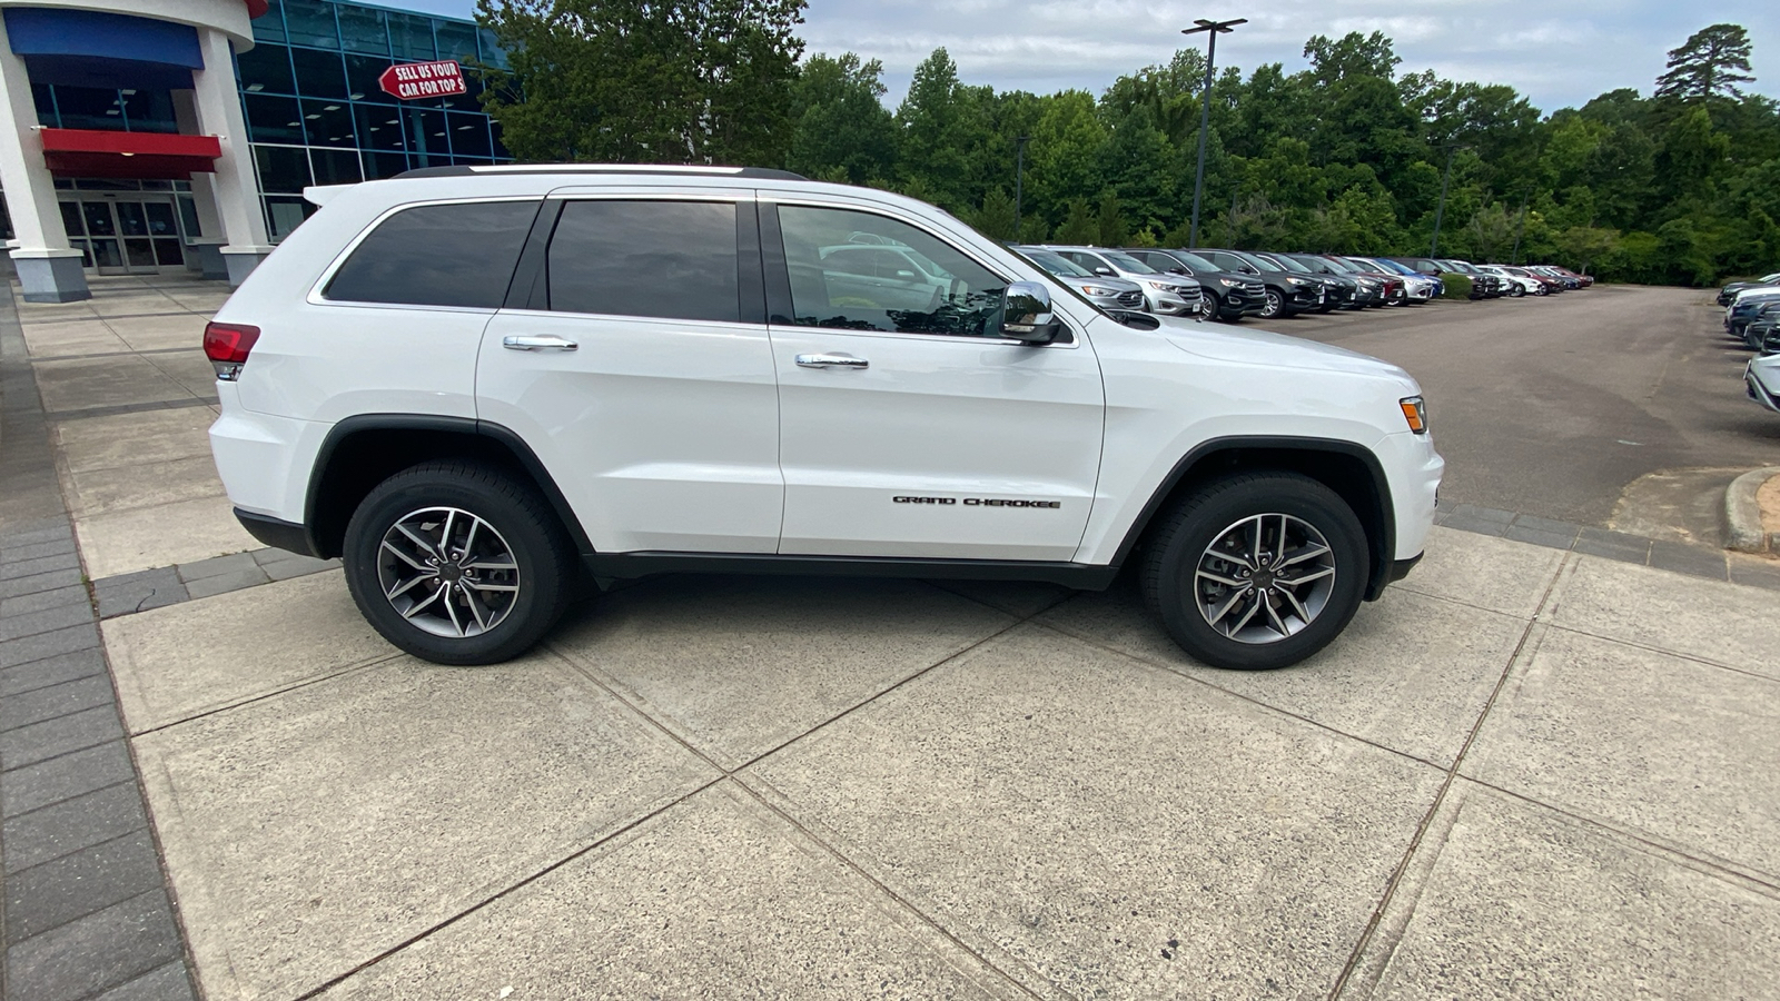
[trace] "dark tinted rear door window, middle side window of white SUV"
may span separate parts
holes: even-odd
[[[550,308],[740,322],[732,201],[570,201],[550,237]]]

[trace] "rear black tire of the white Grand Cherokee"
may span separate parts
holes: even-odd
[[[450,520],[436,517],[443,511],[456,515]],[[468,538],[461,531],[456,538],[466,547],[473,545],[482,554],[481,559],[493,563],[472,563],[479,557],[463,552],[456,557],[461,566],[436,568],[427,577],[425,566],[411,559],[399,563],[384,547],[386,538],[397,538],[392,536],[400,531],[397,524],[409,531],[418,527],[427,541],[433,536],[425,525],[438,524],[440,536],[447,541],[433,552],[443,550],[450,563],[449,540],[454,525],[463,527],[456,522],[459,515],[479,520],[479,525]],[[482,525],[493,533],[493,541]],[[506,563],[513,566],[511,575],[497,566],[502,563],[502,549],[509,554]],[[413,552],[424,557],[429,550],[417,545]],[[495,556],[488,556],[490,552]],[[379,483],[347,522],[342,559],[347,588],[365,620],[395,647],[436,664],[498,664],[532,648],[562,616],[577,568],[575,547],[550,504],[530,484],[473,461],[424,463]],[[482,574],[481,586],[477,574]],[[392,581],[388,590],[402,582],[395,575],[424,579],[409,584],[408,597],[386,597],[386,579]],[[445,595],[434,595],[440,590]],[[413,595],[429,595],[433,604],[429,609],[415,609],[420,600]],[[477,600],[472,602],[472,597]],[[397,600],[408,602],[408,607],[399,611]],[[440,609],[449,616],[440,616]],[[404,611],[413,618],[404,616]],[[481,625],[484,613],[486,629]],[[459,620],[463,625],[457,625]],[[450,634],[450,627],[457,634]]]

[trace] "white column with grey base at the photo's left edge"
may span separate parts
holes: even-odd
[[[55,182],[43,164],[37,107],[30,100],[25,61],[12,55],[12,43],[0,20],[0,189],[12,216],[16,249],[12,265],[27,303],[71,303],[89,299],[80,251],[68,244],[62,212],[55,205]]]

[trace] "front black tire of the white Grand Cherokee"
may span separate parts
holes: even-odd
[[[1287,625],[1283,634],[1273,625],[1262,625],[1255,629],[1262,634],[1273,634],[1273,639],[1260,636],[1260,641],[1244,641],[1216,629],[1210,622],[1212,613],[1202,611],[1200,602],[1216,602],[1228,614],[1241,614],[1250,607],[1258,614],[1266,606],[1287,609],[1283,595],[1280,595],[1280,602],[1269,597],[1278,590],[1276,586],[1269,588],[1271,570],[1257,566],[1253,572],[1251,584],[1255,581],[1262,582],[1260,598],[1244,598],[1239,593],[1241,586],[1219,591],[1221,584],[1202,584],[1200,570],[1205,559],[1212,561],[1207,566],[1223,566],[1216,563],[1216,559],[1223,557],[1223,552],[1212,552],[1212,545],[1255,517],[1262,517],[1264,531],[1267,518],[1280,517],[1296,520],[1298,527],[1308,525],[1321,534],[1328,549],[1326,557],[1319,554],[1315,563],[1303,563],[1303,554],[1315,552],[1315,547],[1321,543],[1305,541],[1307,536],[1303,534],[1290,534],[1289,538],[1305,541],[1305,545],[1283,549],[1285,559],[1282,561],[1271,556],[1273,543],[1266,543],[1264,559],[1269,559],[1274,566],[1285,563],[1312,566],[1308,572],[1294,570],[1294,575],[1314,574],[1324,565],[1331,566],[1333,574],[1330,577],[1331,584],[1321,593],[1317,593],[1317,584],[1314,582],[1294,586],[1294,600],[1307,609],[1314,609],[1310,611],[1308,623],[1299,620],[1296,629],[1292,629],[1292,620],[1298,620],[1298,616],[1287,611],[1285,614],[1274,614],[1274,622]],[[1282,518],[1282,522],[1287,518]],[[1294,533],[1298,527],[1294,527]],[[1264,538],[1267,536],[1264,534]],[[1273,538],[1278,538],[1278,534]],[[1294,554],[1298,554],[1298,559],[1294,559]],[[1333,490],[1307,476],[1290,472],[1237,474],[1194,490],[1159,522],[1157,531],[1148,540],[1141,566],[1145,600],[1150,604],[1150,611],[1161,618],[1162,627],[1168,629],[1175,643],[1205,664],[1244,671],[1296,664],[1335,639],[1347,627],[1353,613],[1360,607],[1360,600],[1365,597],[1369,570],[1365,529],[1360,525],[1360,518],[1355,517],[1353,509]],[[1235,579],[1241,572],[1232,568],[1230,574]],[[1266,579],[1262,577],[1264,574]],[[1255,588],[1250,586],[1248,595],[1253,593]],[[1225,600],[1230,600],[1234,607],[1223,606]],[[1262,614],[1262,620],[1266,618]],[[1246,618],[1244,622],[1253,620]],[[1244,636],[1257,639],[1253,631],[1244,631]]]

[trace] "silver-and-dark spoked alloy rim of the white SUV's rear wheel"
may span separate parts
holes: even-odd
[[[520,566],[486,520],[461,508],[420,508],[383,534],[377,582],[417,629],[468,638],[506,622],[520,597]]]

